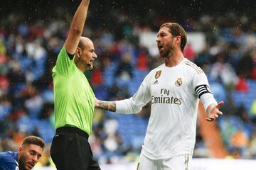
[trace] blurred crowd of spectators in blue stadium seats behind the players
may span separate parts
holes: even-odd
[[[63,15],[61,9],[50,19],[16,12],[0,18],[0,152],[16,150],[23,137],[38,135],[48,144],[43,166],[53,164],[49,159],[55,134],[51,70],[73,16]],[[95,43],[98,57],[86,76],[97,98],[113,101],[132,96],[149,70],[163,62],[156,47],[142,43],[142,35],[154,35],[164,22],[181,23],[187,33],[203,33],[206,38],[203,50],[187,45],[184,55],[206,72],[215,98],[225,102],[217,124],[230,157],[256,159],[256,21],[240,12],[196,18],[183,13],[185,19],[177,20],[159,18],[156,12],[149,10],[142,17],[113,8],[106,20],[89,13],[83,35]],[[100,164],[137,160],[149,114],[150,103],[137,115],[95,110],[90,143]],[[202,155],[212,157],[198,132],[194,157]]]

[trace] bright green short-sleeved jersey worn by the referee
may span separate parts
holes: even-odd
[[[55,128],[73,126],[90,135],[95,94],[64,46],[53,67],[53,84]]]

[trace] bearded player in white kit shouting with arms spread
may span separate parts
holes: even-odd
[[[164,64],[151,70],[139,90],[121,101],[95,101],[95,108],[138,113],[151,101],[139,170],[188,170],[196,142],[199,100],[208,121],[218,118],[223,101],[210,92],[206,74],[183,56],[186,32],[178,23],[164,23],[156,38]]]

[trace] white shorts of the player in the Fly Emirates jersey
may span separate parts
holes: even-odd
[[[181,154],[168,159],[149,159],[141,154],[137,170],[189,170],[191,159],[191,154]]]

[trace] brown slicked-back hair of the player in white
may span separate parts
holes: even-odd
[[[174,37],[176,37],[178,35],[181,36],[181,51],[183,52],[184,47],[187,42],[186,31],[184,30],[184,28],[181,25],[179,25],[178,23],[163,23],[160,26],[160,28],[163,28],[163,27],[169,28],[169,32]]]

